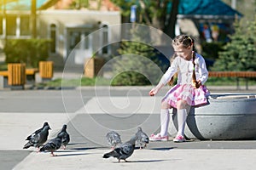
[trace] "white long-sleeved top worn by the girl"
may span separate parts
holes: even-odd
[[[186,60],[179,56],[173,59],[172,64],[163,75],[160,83],[166,85],[177,72],[177,84],[192,84],[193,59]],[[205,59],[201,54],[195,53],[195,77],[196,80],[201,80],[201,84],[207,82],[208,71]]]

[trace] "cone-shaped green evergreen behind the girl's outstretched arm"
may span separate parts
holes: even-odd
[[[150,85],[155,84],[160,79],[163,65],[159,54],[150,44],[145,44],[141,40],[147,36],[147,32],[134,28],[131,41],[122,41],[119,48],[120,56],[113,64],[114,75],[112,85]],[[144,34],[144,35],[143,35]]]

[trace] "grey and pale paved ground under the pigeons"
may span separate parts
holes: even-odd
[[[150,134],[159,129],[160,99],[150,87],[78,88],[69,90],[0,91],[0,169],[253,169],[255,140],[152,142],[135,150],[129,163],[103,159],[109,151],[104,135],[116,129],[127,140],[137,126]],[[212,93],[253,93],[236,88],[210,88]],[[67,123],[71,142],[58,156],[22,150],[29,133],[49,122],[53,138]],[[173,129],[171,126],[169,131]],[[171,136],[172,138],[172,136]]]

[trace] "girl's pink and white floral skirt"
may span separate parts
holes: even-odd
[[[177,84],[172,87],[162,100],[167,100],[168,104],[177,108],[178,100],[185,100],[188,105],[202,106],[208,104],[210,92],[206,86],[194,88],[191,84]]]

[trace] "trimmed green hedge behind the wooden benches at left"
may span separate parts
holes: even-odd
[[[27,67],[38,67],[38,62],[49,57],[49,39],[9,39],[4,53],[6,63],[26,63]]]

